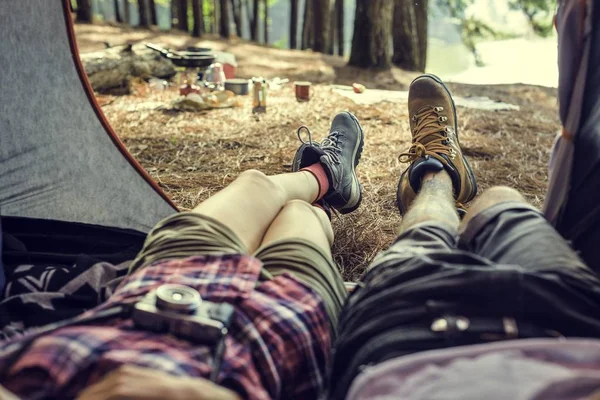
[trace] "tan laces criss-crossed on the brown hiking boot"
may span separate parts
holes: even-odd
[[[449,135],[450,128],[444,124],[448,121],[448,117],[441,115],[442,111],[444,111],[443,107],[428,106],[412,117],[416,123],[412,145],[408,152],[398,156],[398,161],[409,163],[421,157],[431,156],[442,164],[446,164],[447,161],[442,155],[446,155],[450,159],[456,156],[456,152],[451,146],[454,139],[452,135]],[[421,143],[425,138],[428,139],[428,142]]]

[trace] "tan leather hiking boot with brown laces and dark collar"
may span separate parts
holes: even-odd
[[[477,181],[458,141],[456,107],[448,88],[435,75],[416,78],[408,92],[412,145],[400,155],[410,163],[398,183],[398,209],[406,213],[426,172],[446,170],[452,179],[457,207],[477,194]]]

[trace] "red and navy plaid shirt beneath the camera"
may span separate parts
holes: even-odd
[[[219,374],[223,386],[249,399],[315,399],[329,368],[330,326],[322,300],[291,275],[262,282],[249,256],[191,257],[147,266],[109,301],[85,315],[130,303],[164,283],[198,290],[203,299],[235,306]],[[24,399],[72,398],[124,364],[208,378],[205,346],[137,330],[130,319],[71,326],[38,338],[7,371],[14,346],[0,346],[1,382]]]

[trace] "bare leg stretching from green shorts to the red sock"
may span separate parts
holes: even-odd
[[[286,203],[291,200],[311,203],[318,192],[319,184],[309,172],[268,177],[249,170],[193,211],[227,226],[244,243],[246,250],[253,253]]]

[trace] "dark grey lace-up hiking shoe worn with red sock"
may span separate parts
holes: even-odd
[[[308,132],[309,141],[302,140],[303,130]],[[306,127],[298,129],[302,145],[294,156],[292,171],[321,163],[329,178],[329,190],[324,202],[341,214],[350,213],[362,201],[362,187],[356,176],[356,166],[360,161],[364,145],[364,133],[354,115],[343,112],[335,116],[329,136],[321,143],[313,142]]]

